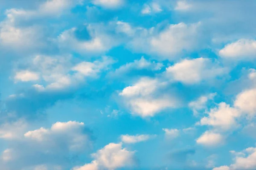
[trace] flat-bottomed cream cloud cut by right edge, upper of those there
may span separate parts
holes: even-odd
[[[256,58],[256,40],[241,39],[225,45],[219,55],[227,59],[254,59]]]

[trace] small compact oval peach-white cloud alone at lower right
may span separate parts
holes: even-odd
[[[207,147],[212,147],[222,144],[224,142],[224,137],[219,133],[206,131],[198,139],[196,139],[196,142]]]

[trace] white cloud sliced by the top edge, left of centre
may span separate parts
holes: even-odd
[[[124,5],[124,0],[93,0],[93,4],[103,8],[116,9]]]

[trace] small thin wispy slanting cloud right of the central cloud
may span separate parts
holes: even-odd
[[[198,111],[201,111],[202,109],[206,109],[207,102],[209,100],[212,100],[216,96],[216,93],[211,93],[208,95],[200,96],[195,101],[189,102],[189,108],[192,108],[194,114],[197,114]]]

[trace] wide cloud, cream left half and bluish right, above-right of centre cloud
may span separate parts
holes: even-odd
[[[184,59],[169,68],[166,74],[175,81],[186,84],[194,84],[202,80],[221,76],[227,72],[226,68],[220,67],[207,58]]]

